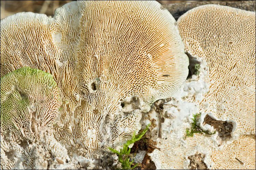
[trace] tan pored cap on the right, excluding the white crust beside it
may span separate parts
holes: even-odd
[[[255,134],[255,12],[203,5],[177,24],[185,51],[209,66],[212,84],[199,111],[234,120],[238,135]]]

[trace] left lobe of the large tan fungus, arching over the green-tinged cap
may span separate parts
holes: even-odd
[[[54,18],[22,12],[1,20],[0,75],[22,67],[53,75],[62,100],[75,100],[75,72],[79,41],[79,10],[76,2],[56,9]]]

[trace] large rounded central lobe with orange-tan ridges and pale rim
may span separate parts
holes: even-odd
[[[86,94],[100,91],[116,100],[138,96],[152,104],[185,81],[188,58],[182,40],[174,18],[158,2],[79,3],[84,41],[78,62]]]

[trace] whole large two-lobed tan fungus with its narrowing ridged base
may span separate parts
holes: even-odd
[[[53,18],[18,13],[1,20],[0,52],[1,77],[24,66],[53,75],[62,100],[55,138],[87,158],[138,132],[141,111],[173,94],[189,63],[175,19],[156,1],[76,1]]]

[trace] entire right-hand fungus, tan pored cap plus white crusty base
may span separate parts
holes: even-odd
[[[191,155],[201,154],[202,169],[255,169],[255,12],[204,5],[177,25],[190,63],[200,68],[163,105],[160,150],[150,154],[156,168],[193,169]],[[200,112],[212,119],[205,119],[205,127],[202,117],[195,123],[216,134],[184,138],[192,115]],[[157,116],[148,112],[144,124]],[[154,139],[158,127],[150,130]]]

